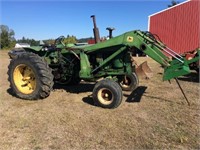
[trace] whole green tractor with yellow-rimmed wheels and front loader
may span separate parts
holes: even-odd
[[[92,93],[96,105],[116,108],[122,102],[122,90],[133,91],[139,84],[131,61],[134,51],[140,50],[160,63],[164,68],[163,80],[189,74],[189,64],[199,60],[199,55],[186,60],[151,33],[139,30],[93,45],[66,45],[64,38],[57,38],[51,46],[25,47],[19,52],[9,52],[12,58],[8,67],[9,81],[17,97],[43,99],[50,95],[54,83],[70,86],[84,80],[96,82]]]

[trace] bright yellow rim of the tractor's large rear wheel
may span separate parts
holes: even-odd
[[[36,88],[35,74],[25,64],[18,65],[14,69],[13,80],[17,89],[23,94],[31,94]]]

